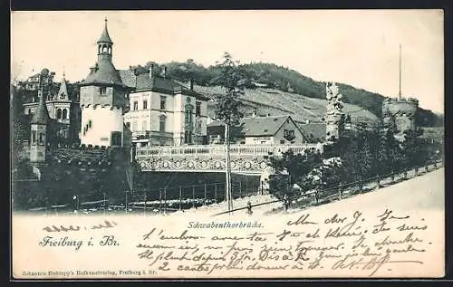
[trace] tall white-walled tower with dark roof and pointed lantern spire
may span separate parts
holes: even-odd
[[[85,145],[122,147],[123,114],[129,88],[123,84],[120,72],[112,63],[113,42],[107,30],[107,19],[97,44],[98,62],[80,84],[82,109],[80,139]]]

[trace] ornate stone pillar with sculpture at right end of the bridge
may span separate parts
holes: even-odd
[[[325,138],[327,141],[340,139],[342,135],[342,94],[338,92],[338,86],[334,82],[325,85],[326,98],[328,100],[325,114]]]

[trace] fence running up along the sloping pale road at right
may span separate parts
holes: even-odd
[[[431,169],[429,169],[431,166]],[[429,171],[438,169],[439,167],[443,167],[443,161],[436,161],[432,164],[426,164],[424,166],[419,167],[411,167],[406,170],[401,170],[398,172],[390,172],[385,175],[378,175],[376,177],[369,177],[365,179],[361,179],[358,181],[350,182],[345,185],[338,185],[336,187],[329,187],[320,190],[310,190],[305,192],[302,195],[293,196],[286,198],[286,202],[289,203],[285,206],[284,199],[275,199],[272,201],[252,205],[254,206],[265,206],[275,204],[277,202],[282,202],[283,205],[279,209],[287,209],[287,208],[294,208],[294,207],[308,207],[308,206],[318,206],[321,204],[326,204],[329,202],[333,202],[334,200],[342,200],[349,196],[353,196],[356,194],[361,194],[363,192],[368,192],[374,189],[379,189],[381,187],[390,186],[391,184],[400,182],[400,180],[406,180],[413,177],[419,177],[422,174],[425,174]],[[410,174],[413,173],[413,177],[410,177]],[[398,178],[399,177],[399,178]],[[365,187],[365,188],[364,188]],[[272,192],[271,192],[272,194]],[[245,210],[248,208],[247,206],[240,207],[233,209],[232,211],[225,211],[218,213],[216,215],[224,215],[228,213],[233,213],[239,210]],[[213,216],[216,216],[213,215]]]

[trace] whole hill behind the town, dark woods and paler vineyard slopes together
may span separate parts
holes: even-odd
[[[167,76],[176,81],[188,82],[193,79],[196,82],[196,90],[206,92],[219,91],[212,86],[212,79],[219,72],[217,66],[204,67],[192,59],[186,62],[168,62],[159,64],[157,62],[147,62],[144,66],[130,66],[130,69],[137,69],[138,73],[149,72],[149,67],[154,64],[155,71],[161,72],[162,66],[167,67]],[[284,66],[274,63],[252,62],[241,64],[240,68],[246,74],[246,95],[245,100],[254,100],[263,105],[284,106],[289,113],[301,113],[294,118],[317,118],[319,121],[323,117],[325,109],[325,82],[314,81]],[[372,120],[376,116],[381,116],[381,102],[385,99],[379,93],[365,91],[354,88],[351,85],[337,83],[343,95],[343,101],[351,104],[346,105],[346,112],[360,113],[357,118],[367,118]],[[320,101],[321,100],[321,101]],[[314,104],[314,106],[312,106]],[[307,109],[304,109],[304,106]],[[293,107],[293,108],[291,108]],[[302,108],[302,110],[301,110]],[[365,110],[361,112],[360,110]],[[312,111],[312,113],[311,113]],[[282,110],[284,112],[284,110]],[[286,111],[288,113],[288,111]],[[354,116],[352,115],[352,119]],[[419,126],[433,127],[443,125],[443,116],[436,115],[430,110],[419,109],[417,118]]]

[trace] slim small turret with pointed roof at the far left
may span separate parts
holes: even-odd
[[[30,163],[34,168],[34,173],[40,177],[40,167],[45,164],[47,147],[47,128],[50,123],[49,111],[45,105],[43,95],[43,83],[40,75],[40,87],[38,91],[39,103],[36,112],[30,121]]]

